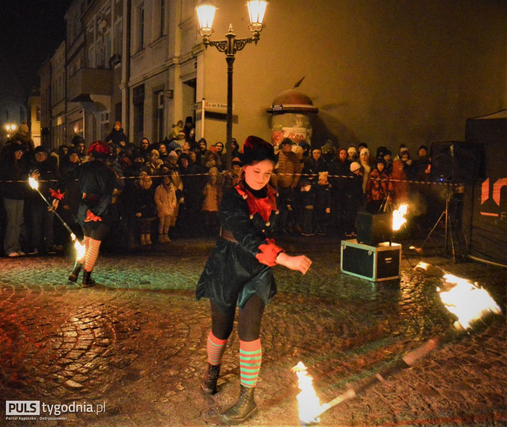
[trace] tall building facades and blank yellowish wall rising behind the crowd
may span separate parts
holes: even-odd
[[[224,110],[194,110],[203,98],[227,100],[225,55],[203,48],[197,3],[71,4],[65,15],[67,141],[74,134],[88,142],[103,138],[115,120],[133,143],[142,136],[159,141],[188,116],[196,120],[197,137],[225,140]],[[403,143],[414,152],[420,144],[462,140],[466,118],[506,108],[502,2],[309,3],[271,1],[259,43],[236,53],[238,141],[249,134],[270,139],[267,110],[302,78],[298,90],[318,107],[311,136],[318,146],[331,139],[337,146],[366,142],[396,150]],[[230,24],[238,38],[251,37],[243,2],[216,4],[212,40],[225,39]]]

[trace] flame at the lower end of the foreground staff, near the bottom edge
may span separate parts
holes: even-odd
[[[328,405],[320,404],[313,388],[313,378],[306,372],[306,366],[303,362],[299,362],[291,371],[298,376],[298,387],[301,390],[297,396],[300,421],[305,424],[320,422],[317,417],[328,409]]]

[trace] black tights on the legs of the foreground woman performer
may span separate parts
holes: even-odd
[[[210,306],[213,335],[218,339],[229,338],[234,325],[236,307],[232,306],[225,312],[213,302],[210,302]],[[241,341],[255,341],[259,338],[264,307],[264,301],[259,296],[253,295],[248,298],[243,308],[239,309],[238,337]]]

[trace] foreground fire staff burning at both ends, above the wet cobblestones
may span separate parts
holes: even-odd
[[[402,359],[395,361],[390,367],[366,378],[356,387],[348,389],[345,393],[342,393],[328,403],[320,404],[312,385],[313,379],[306,372],[303,362],[299,362],[292,368],[292,372],[295,372],[298,376],[298,386],[301,389],[297,398],[299,403],[299,419],[303,425],[320,422],[320,418],[318,417],[323,412],[333,406],[355,398],[358,393],[379,382],[385,381],[387,376],[413,366],[430,351],[452,339],[457,332],[471,328],[474,321],[483,318],[489,313],[501,313],[498,304],[485,289],[478,286],[478,283],[472,283],[467,279],[447,274],[439,267],[423,262],[417,264],[415,268],[421,268],[425,271],[439,271],[441,274],[444,273],[442,289],[437,288],[437,291],[442,303],[450,313],[458,318],[457,321],[444,334],[429,339],[415,350],[405,354]]]

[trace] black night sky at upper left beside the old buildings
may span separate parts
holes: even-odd
[[[72,0],[0,0],[0,66],[13,70],[25,91],[39,85],[38,70],[65,40],[63,16]]]

